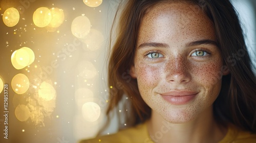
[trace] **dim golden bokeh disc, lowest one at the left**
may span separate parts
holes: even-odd
[[[29,107],[26,105],[18,105],[15,109],[15,116],[17,120],[24,122],[27,121],[30,116],[30,110]]]

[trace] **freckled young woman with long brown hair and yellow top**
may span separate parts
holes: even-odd
[[[81,142],[256,142],[256,78],[228,0],[129,0],[109,86],[107,113],[126,95],[132,127]]]

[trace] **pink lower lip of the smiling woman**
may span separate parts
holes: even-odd
[[[192,101],[197,94],[189,95],[189,96],[162,96],[163,99],[170,104],[174,105],[184,105],[187,104],[188,102]]]

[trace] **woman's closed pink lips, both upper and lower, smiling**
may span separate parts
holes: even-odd
[[[160,95],[163,99],[170,104],[174,105],[183,105],[191,100],[193,100],[197,96],[197,91],[170,91],[161,93]]]

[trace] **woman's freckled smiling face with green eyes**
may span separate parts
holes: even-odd
[[[196,6],[159,4],[142,19],[131,76],[166,121],[185,123],[212,112],[222,65],[214,26]]]

